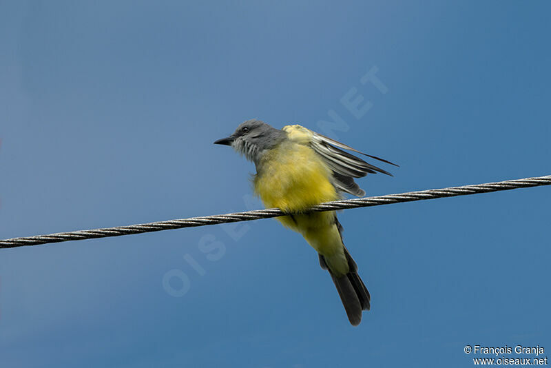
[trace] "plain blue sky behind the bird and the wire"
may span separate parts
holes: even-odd
[[[0,238],[260,208],[252,165],[212,145],[254,117],[399,163],[360,180],[368,195],[551,174],[550,10],[3,1]],[[361,82],[370,70],[384,88]],[[371,108],[355,116],[347,93]],[[4,249],[1,365],[466,367],[465,345],[547,353],[550,194],[342,212],[372,295],[356,328],[313,249],[274,220]]]

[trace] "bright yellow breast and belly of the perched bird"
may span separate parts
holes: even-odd
[[[284,142],[264,154],[254,178],[254,190],[264,206],[285,212],[302,212],[322,202],[340,198],[331,183],[331,170],[310,147]],[[346,274],[342,241],[335,224],[335,212],[314,212],[278,217],[285,226],[299,232],[318,253],[342,258],[335,271]],[[334,267],[331,267],[332,269]]]

